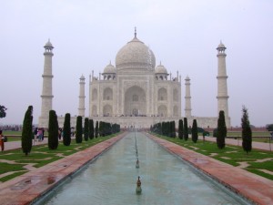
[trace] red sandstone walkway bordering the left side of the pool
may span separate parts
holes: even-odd
[[[26,205],[43,197],[110,149],[126,132],[0,184],[0,205]]]

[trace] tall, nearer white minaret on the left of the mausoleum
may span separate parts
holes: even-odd
[[[47,128],[48,127],[48,118],[49,118],[49,110],[52,109],[52,50],[54,46],[48,42],[45,44],[45,64],[44,64],[44,74],[43,77],[43,90],[42,90],[42,107],[41,107],[41,116],[39,118],[39,128]]]

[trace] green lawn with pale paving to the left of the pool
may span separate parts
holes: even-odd
[[[27,163],[35,163],[34,167],[43,167],[46,164],[62,159],[63,157],[56,156],[57,154],[62,154],[63,156],[68,156],[76,153],[79,150],[90,148],[97,143],[105,141],[106,139],[113,138],[115,135],[110,135],[101,138],[89,139],[88,141],[83,140],[83,143],[76,143],[75,139],[72,139],[70,146],[64,146],[62,142],[59,142],[58,149],[49,150],[47,145],[35,146],[32,148],[31,153],[28,156],[20,149],[6,150],[0,152],[0,159],[11,160],[16,164],[9,164],[6,162],[0,162],[0,175],[9,171],[18,171],[12,175],[0,178],[0,181],[4,182],[9,179],[13,179],[27,172],[28,170],[24,168]]]

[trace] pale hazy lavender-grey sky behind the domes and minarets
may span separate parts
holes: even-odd
[[[53,108],[77,115],[79,77],[98,76],[134,36],[157,65],[191,79],[192,115],[217,117],[217,50],[227,46],[228,107],[240,126],[242,106],[252,125],[273,123],[272,0],[8,0],[0,6],[0,124],[22,124],[29,105],[41,113],[44,46],[53,50]]]

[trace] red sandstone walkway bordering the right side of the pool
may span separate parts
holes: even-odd
[[[207,174],[212,179],[226,186],[255,204],[273,204],[273,181],[239,169],[227,163],[209,158],[193,150],[186,149],[163,138],[145,133],[160,146],[186,160],[189,164]]]

